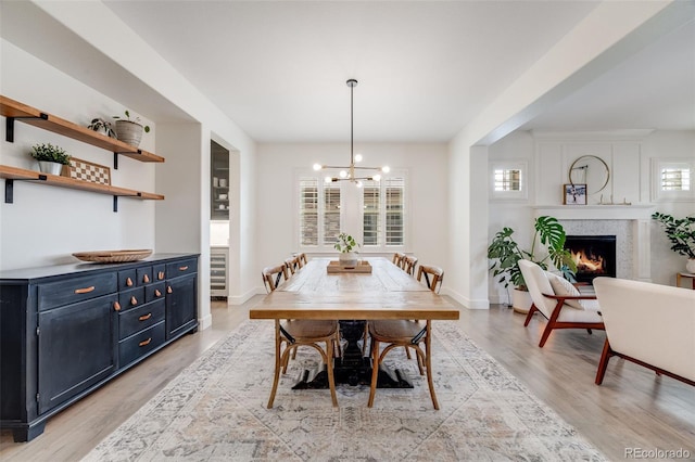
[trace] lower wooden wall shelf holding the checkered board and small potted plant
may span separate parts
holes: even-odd
[[[41,174],[35,170],[25,170],[24,168],[10,167],[8,165],[0,165],[0,178],[4,178],[7,180],[4,192],[5,203],[13,202],[15,180],[38,181],[39,184],[112,195],[114,196],[114,211],[118,210],[117,197],[132,197],[151,201],[164,200],[164,196],[162,194],[112,187],[111,184],[91,183],[89,181],[76,180],[74,178],[61,177],[59,175]]]

